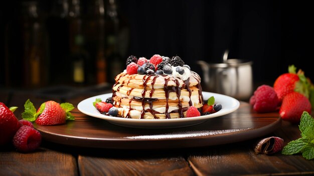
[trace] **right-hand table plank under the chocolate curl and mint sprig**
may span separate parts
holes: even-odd
[[[282,122],[282,127],[271,134],[284,139],[284,143],[300,136],[297,124]],[[268,136],[271,136],[268,135]],[[265,136],[267,137],[267,136]],[[253,148],[259,139],[213,146],[192,152],[188,162],[198,175],[224,174],[314,174],[314,162],[301,155],[255,154]]]

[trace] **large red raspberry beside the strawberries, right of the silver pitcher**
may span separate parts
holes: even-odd
[[[277,109],[279,99],[273,87],[261,85],[254,91],[255,103],[253,109],[256,112],[273,112]]]

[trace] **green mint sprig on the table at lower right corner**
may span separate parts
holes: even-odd
[[[299,124],[301,131],[301,138],[290,141],[286,146],[283,147],[281,153],[292,155],[302,153],[302,156],[306,159],[314,158],[314,119],[303,111],[301,121]]]

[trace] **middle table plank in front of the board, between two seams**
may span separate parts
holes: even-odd
[[[130,151],[134,152],[134,151]],[[78,156],[81,175],[194,175],[182,156]],[[168,153],[169,154],[169,153]]]

